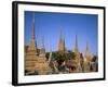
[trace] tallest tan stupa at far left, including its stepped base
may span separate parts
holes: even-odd
[[[37,61],[37,46],[35,41],[35,13],[32,14],[31,33],[32,35],[31,35],[30,44],[25,53],[25,71],[35,72],[35,63]]]

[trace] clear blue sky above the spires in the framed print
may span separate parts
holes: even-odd
[[[32,13],[35,13],[35,34],[37,47],[41,47],[44,36],[45,51],[58,50],[60,32],[67,50],[75,50],[76,35],[78,36],[79,51],[84,53],[86,41],[92,54],[97,54],[98,16],[96,14],[55,13],[25,11],[25,45],[29,45],[32,30]]]

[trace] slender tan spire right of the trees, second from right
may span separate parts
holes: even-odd
[[[80,72],[80,52],[78,49],[78,36],[76,35],[76,45],[75,45],[75,60],[76,60],[76,72]]]

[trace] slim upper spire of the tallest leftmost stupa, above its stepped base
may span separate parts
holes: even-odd
[[[32,14],[32,32],[31,32],[31,39],[30,39],[30,45],[28,47],[28,51],[31,53],[37,54],[37,44],[36,44],[36,38],[35,38],[35,13]]]

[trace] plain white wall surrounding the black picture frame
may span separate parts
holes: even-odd
[[[69,3],[69,4],[106,5],[106,7],[108,5],[108,0],[32,0],[32,1],[55,2],[55,3],[60,2],[60,3]],[[106,17],[106,20],[108,22],[108,16]],[[108,26],[106,28],[108,28]],[[108,34],[106,35],[108,37]],[[106,40],[106,45],[108,45],[108,39]],[[108,46],[106,46],[106,48],[108,48]],[[12,52],[11,51],[12,51],[12,0],[0,0],[0,87],[12,87],[11,85]],[[106,57],[106,62],[108,62],[107,57]],[[108,66],[108,63],[106,66]],[[108,73],[108,69],[107,69],[107,73]],[[60,86],[63,87],[108,87],[108,79],[99,80],[99,82],[86,82],[86,83],[38,85],[37,87],[60,87]],[[36,86],[28,86],[28,87],[36,87]]]

